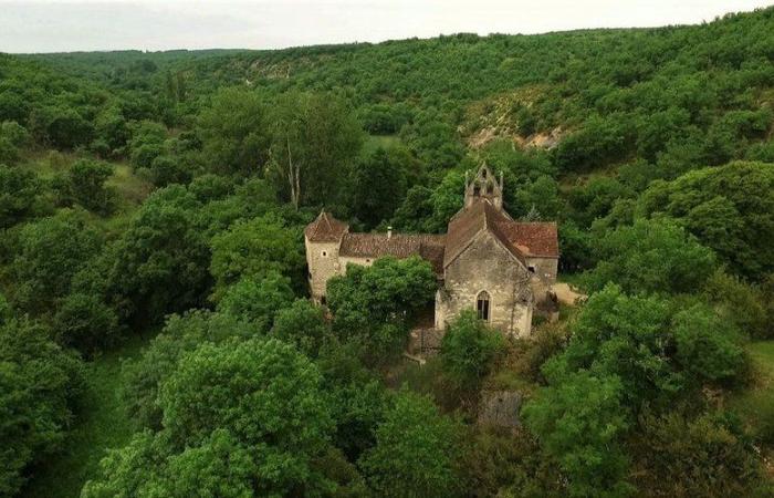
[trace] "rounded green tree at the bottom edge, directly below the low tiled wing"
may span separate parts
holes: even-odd
[[[359,459],[368,484],[384,497],[460,496],[460,430],[429,398],[401,391]]]

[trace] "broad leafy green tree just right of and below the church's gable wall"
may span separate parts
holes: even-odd
[[[629,297],[607,286],[588,299],[572,332],[552,367],[615,375],[635,412],[645,404],[668,409],[708,383],[740,380],[746,369],[736,331],[691,300]]]

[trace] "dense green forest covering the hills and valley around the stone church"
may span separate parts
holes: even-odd
[[[774,496],[773,136],[774,8],[0,54],[0,496]],[[481,163],[584,302],[420,366],[427,262],[308,300],[321,208],[443,232]]]

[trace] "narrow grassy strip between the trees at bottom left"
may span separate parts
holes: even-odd
[[[147,339],[134,338],[123,347],[87,363],[87,390],[79,422],[64,442],[62,453],[49,464],[33,469],[34,478],[22,496],[29,498],[72,498],[94,477],[100,460],[109,448],[123,446],[134,433],[121,400],[121,363],[136,357]]]

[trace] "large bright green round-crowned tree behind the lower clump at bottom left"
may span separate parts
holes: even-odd
[[[222,428],[260,448],[259,494],[320,489],[312,459],[332,426],[320,382],[314,364],[276,340],[203,344],[161,383],[161,423],[178,447]]]

